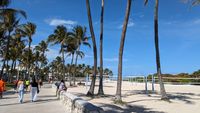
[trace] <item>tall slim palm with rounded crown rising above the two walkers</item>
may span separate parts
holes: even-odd
[[[28,22],[27,24],[22,25],[21,32],[28,37],[28,62],[31,61],[31,43],[32,43],[32,36],[36,32],[36,25],[34,23]],[[28,77],[30,78],[30,62],[28,63]]]

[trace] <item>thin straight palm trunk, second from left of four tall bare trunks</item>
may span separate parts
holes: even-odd
[[[100,32],[100,76],[98,95],[104,95],[103,92],[103,15],[104,15],[104,0],[101,4],[101,32]]]

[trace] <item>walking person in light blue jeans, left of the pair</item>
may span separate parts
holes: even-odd
[[[24,88],[25,88],[25,84],[24,84],[24,80],[20,79],[18,81],[18,85],[17,85],[17,89],[18,89],[18,93],[19,93],[19,102],[23,103],[23,99],[24,99]]]

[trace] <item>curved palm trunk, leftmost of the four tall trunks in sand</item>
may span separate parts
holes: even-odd
[[[93,53],[94,53],[94,70],[93,70],[93,75],[92,75],[92,82],[91,82],[91,85],[90,85],[90,89],[87,92],[87,96],[93,96],[94,95],[94,88],[95,88],[95,81],[96,81],[96,73],[97,73],[96,72],[97,71],[97,47],[96,47],[95,34],[94,34],[94,30],[93,30],[93,25],[92,25],[92,17],[91,17],[89,0],[86,0],[86,7],[87,7],[90,33],[91,33],[91,36],[92,36]]]

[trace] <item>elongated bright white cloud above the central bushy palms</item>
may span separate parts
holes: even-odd
[[[73,20],[64,20],[64,19],[46,19],[45,22],[50,26],[65,25],[68,29],[71,29],[78,22]]]

